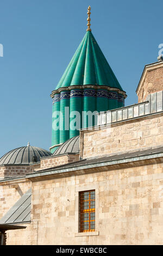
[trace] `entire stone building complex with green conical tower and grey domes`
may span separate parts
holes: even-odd
[[[83,117],[76,131],[53,131],[51,153],[28,144],[0,159],[7,245],[162,245],[163,61],[145,66],[139,103],[124,107],[126,93],[91,33],[90,8],[88,15],[51,96],[53,112],[96,110],[97,123]]]

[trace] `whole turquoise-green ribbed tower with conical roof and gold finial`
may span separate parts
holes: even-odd
[[[88,127],[87,111],[100,112],[123,107],[124,99],[127,97],[91,32],[90,10],[89,6],[86,34],[51,94],[53,131],[50,149],[52,153],[61,143],[79,135],[79,131],[71,129],[70,126],[74,119],[73,111],[80,113],[78,128]],[[58,120],[57,111],[61,113],[59,129],[54,130],[54,124]],[[96,125],[95,120],[92,125]]]

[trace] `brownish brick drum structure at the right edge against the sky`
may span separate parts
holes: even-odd
[[[143,71],[136,93],[138,102],[143,102],[151,93],[163,90],[163,62],[147,65]]]

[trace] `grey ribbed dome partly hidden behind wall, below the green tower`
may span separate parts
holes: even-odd
[[[68,139],[53,153],[53,156],[65,153],[78,153],[79,152],[79,136]]]

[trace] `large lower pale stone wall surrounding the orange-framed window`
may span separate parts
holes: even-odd
[[[162,245],[163,164],[146,160],[132,168],[109,168],[33,182],[38,245]],[[77,193],[91,189],[96,191],[96,234],[77,234]]]

